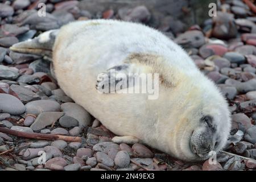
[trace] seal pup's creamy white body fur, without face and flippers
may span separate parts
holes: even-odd
[[[141,72],[163,76],[158,100],[148,100],[146,94],[98,93],[98,74],[134,53]],[[143,61],[144,56],[151,60]],[[196,160],[189,139],[200,118],[209,114],[220,138],[217,150],[226,142],[230,119],[224,97],[183,49],[152,28],[115,20],[69,23],[56,37],[53,65],[64,92],[117,135]]]

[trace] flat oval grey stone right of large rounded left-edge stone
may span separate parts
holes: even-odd
[[[60,111],[60,104],[52,100],[31,101],[25,106],[27,114],[39,115],[47,111]]]

